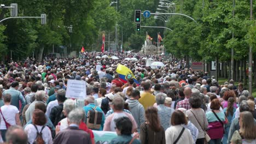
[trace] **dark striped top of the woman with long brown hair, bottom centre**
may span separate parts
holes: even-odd
[[[139,139],[141,144],[165,144],[165,130],[162,128],[161,131],[155,132],[147,123],[143,123]]]

